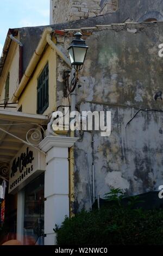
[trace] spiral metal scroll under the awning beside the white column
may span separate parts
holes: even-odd
[[[30,129],[26,133],[27,142],[33,146],[38,146],[44,137],[45,130],[43,130],[43,127],[41,125],[37,125],[37,128]]]

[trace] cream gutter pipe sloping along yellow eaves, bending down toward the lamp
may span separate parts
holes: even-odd
[[[30,59],[30,62],[27,66],[26,71],[24,72],[24,75],[22,77],[22,80],[19,86],[17,87],[17,89],[15,90],[15,93],[11,98],[11,103],[17,102],[18,97],[20,97],[21,93],[23,92],[23,89],[26,87],[27,82],[32,76],[37,63],[39,63],[39,60],[41,58],[41,55],[47,43],[54,49],[55,52],[57,52],[57,54],[61,57],[61,59],[63,59],[66,62],[66,64],[71,67],[70,60],[68,60],[68,58],[64,55],[64,53],[62,53],[60,49],[57,47],[57,45],[55,45],[54,42],[52,41],[51,39],[52,32],[53,32],[53,29],[49,27],[45,28],[45,30],[43,31],[42,38],[39,42],[39,45],[37,46],[32,58]]]

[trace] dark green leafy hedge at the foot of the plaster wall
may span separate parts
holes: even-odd
[[[108,199],[114,194],[122,196],[114,191]],[[66,217],[61,228],[55,230],[58,245],[163,245],[163,210],[134,210],[131,206],[139,201],[137,197],[126,207],[119,204],[121,200],[115,201],[118,204],[103,206],[99,211],[83,210],[71,219]]]

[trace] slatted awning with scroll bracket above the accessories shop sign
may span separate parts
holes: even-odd
[[[0,178],[8,179],[9,162],[24,144],[37,147],[47,123],[46,115],[0,111]]]

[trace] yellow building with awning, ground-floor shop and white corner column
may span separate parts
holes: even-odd
[[[47,128],[57,109],[57,55],[67,68],[71,64],[57,47],[52,28],[44,29],[23,70],[25,47],[20,33],[9,31],[0,68],[0,168],[6,168],[0,179],[7,182],[8,219],[16,223],[8,227],[8,237],[23,245],[31,244],[31,237],[33,243],[54,245],[55,223],[71,216],[77,138],[67,132],[54,136]],[[10,200],[15,202],[13,220]],[[41,233],[35,234],[38,223]]]

